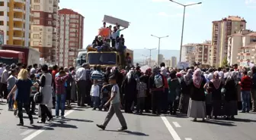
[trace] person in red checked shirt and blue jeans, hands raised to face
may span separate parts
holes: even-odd
[[[61,117],[64,119],[65,114],[65,102],[66,102],[66,88],[65,82],[69,78],[69,75],[65,71],[60,70],[59,76],[56,76],[56,118],[59,117],[59,109],[61,110]]]

